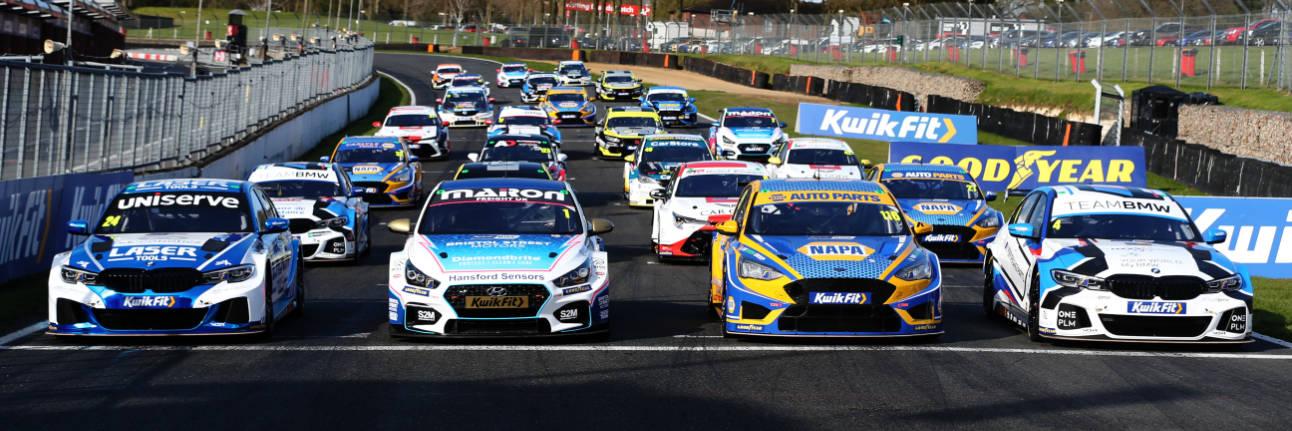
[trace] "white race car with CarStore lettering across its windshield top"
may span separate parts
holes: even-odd
[[[678,165],[703,160],[713,160],[713,152],[702,135],[647,135],[637,152],[624,157],[624,197],[628,199],[628,206],[651,206],[651,192],[664,188],[673,179]]]

